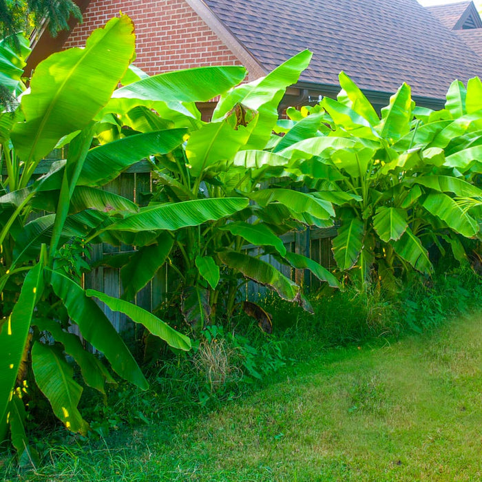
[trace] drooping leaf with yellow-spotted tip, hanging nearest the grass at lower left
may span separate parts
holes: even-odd
[[[60,350],[35,342],[32,346],[32,370],[37,386],[47,397],[56,417],[72,432],[86,435],[89,426],[77,408],[83,388],[74,381],[74,370]]]

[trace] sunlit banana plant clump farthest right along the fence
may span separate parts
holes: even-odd
[[[292,179],[336,205],[333,253],[340,271],[362,284],[373,275],[393,286],[412,269],[430,275],[429,249],[466,258],[461,238],[480,236],[481,81],[458,81],[446,109],[415,106],[401,85],[381,116],[343,72],[337,100],[324,98],[316,135],[277,151]],[[291,113],[301,123],[302,112]],[[326,129],[326,127],[328,127]]]

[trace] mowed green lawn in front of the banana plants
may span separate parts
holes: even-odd
[[[319,349],[208,415],[48,454],[7,480],[482,481],[482,313]]]

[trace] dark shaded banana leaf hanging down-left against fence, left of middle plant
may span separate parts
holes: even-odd
[[[121,269],[124,300],[134,300],[138,291],[152,280],[166,261],[174,244],[174,238],[167,231],[157,238],[157,244],[140,248]]]

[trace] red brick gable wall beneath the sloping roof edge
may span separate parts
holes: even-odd
[[[241,65],[236,56],[183,0],[92,0],[64,48],[85,45],[87,36],[122,11],[136,26],[135,64],[154,75],[205,65]]]

